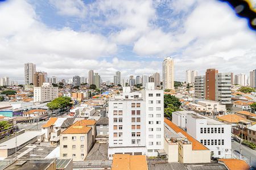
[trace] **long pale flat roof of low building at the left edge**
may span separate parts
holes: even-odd
[[[35,138],[38,135],[41,135],[41,131],[25,131],[25,133],[17,135],[17,147],[20,145],[23,145],[23,143],[26,143],[27,141],[30,141],[32,138]],[[1,143],[0,150],[4,149],[10,149],[15,148],[15,138],[9,139],[8,141],[5,141]]]

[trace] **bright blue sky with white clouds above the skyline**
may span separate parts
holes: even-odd
[[[256,69],[256,33],[216,0],[0,1],[0,77],[24,83],[24,63],[58,79],[88,71],[113,80],[162,74],[173,57],[185,70],[245,73]]]

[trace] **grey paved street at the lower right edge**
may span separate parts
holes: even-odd
[[[240,143],[234,141],[232,142],[232,151],[240,151]],[[250,163],[253,167],[256,167],[256,151],[251,148],[242,145],[242,155],[245,156],[244,159],[247,160],[247,163]]]

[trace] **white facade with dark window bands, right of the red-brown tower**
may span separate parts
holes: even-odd
[[[220,104],[231,104],[231,73],[218,73],[215,79],[215,100]]]

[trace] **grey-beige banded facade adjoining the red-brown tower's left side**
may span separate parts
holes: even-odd
[[[205,75],[195,76],[195,97],[205,98]]]

